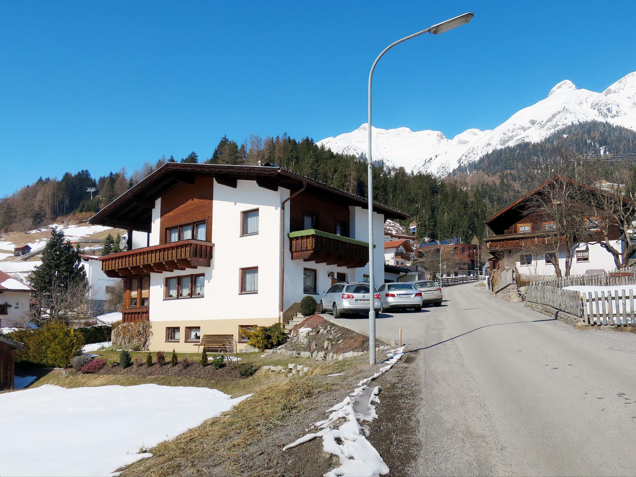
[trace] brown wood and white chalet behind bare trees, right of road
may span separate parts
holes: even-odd
[[[556,185],[555,185],[556,184]],[[554,215],[541,210],[537,204],[553,204],[558,206],[556,198],[550,198],[550,188],[566,184],[570,188],[591,191],[590,197],[600,194],[585,184],[577,183],[567,177],[556,176],[523,195],[501,211],[486,220],[487,237],[484,241],[490,253],[489,268],[494,272],[497,266],[505,264],[514,266],[519,273],[526,275],[555,275],[553,261],[563,273],[567,256],[565,237],[556,228]],[[537,198],[543,195],[543,199]],[[548,205],[550,207],[550,205]],[[583,273],[605,272],[614,270],[614,256],[597,240],[591,240],[600,231],[598,226],[598,212],[591,201],[583,205],[584,211],[589,207],[584,219],[587,241],[576,241],[570,250],[572,256],[571,275]],[[580,213],[580,212],[579,212]],[[600,232],[598,232],[600,233]],[[617,250],[622,250],[621,233],[618,226],[608,228],[608,241]],[[601,239],[601,237],[597,237]]]

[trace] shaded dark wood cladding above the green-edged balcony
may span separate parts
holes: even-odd
[[[314,228],[322,232],[336,233],[338,222],[347,226],[346,235],[350,235],[349,206],[327,197],[319,197],[307,191],[294,197],[289,206],[289,232],[305,230],[305,214],[317,218]]]

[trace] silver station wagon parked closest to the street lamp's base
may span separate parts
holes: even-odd
[[[373,307],[378,314],[380,294],[375,287],[373,291]],[[371,293],[367,282],[338,282],[322,292],[320,304],[323,313],[329,310],[334,318],[338,318],[342,314],[368,313],[370,300]]]

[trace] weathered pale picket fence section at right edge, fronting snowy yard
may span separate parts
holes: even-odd
[[[569,290],[564,290],[569,291]],[[586,324],[611,324],[619,326],[635,326],[634,292],[632,289],[598,291],[581,296],[583,322]]]

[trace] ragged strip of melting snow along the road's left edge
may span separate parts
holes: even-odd
[[[326,477],[366,477],[389,473],[389,467],[382,456],[366,439],[369,434],[368,427],[360,423],[371,422],[378,417],[375,404],[380,403],[380,386],[371,387],[368,384],[390,370],[404,356],[405,348],[403,346],[387,352],[387,359],[383,361],[386,366],[380,368],[373,376],[361,380],[354,392],[329,408],[326,411],[329,417],[314,424],[319,431],[306,434],[284,446],[282,450],[319,437],[322,439],[324,451],[340,459],[340,467],[326,473]]]

